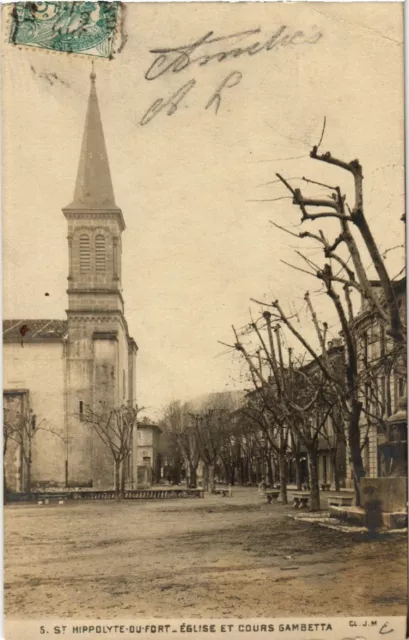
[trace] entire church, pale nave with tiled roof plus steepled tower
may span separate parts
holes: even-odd
[[[30,453],[32,488],[111,489],[112,456],[84,411],[96,411],[101,401],[111,408],[136,403],[138,348],[129,335],[121,285],[125,222],[115,202],[94,72],[90,78],[74,198],[62,210],[69,256],[66,319],[3,322],[4,410],[41,423]],[[122,469],[128,485],[137,480],[134,435]],[[27,475],[21,447],[9,440],[7,487],[25,490]]]

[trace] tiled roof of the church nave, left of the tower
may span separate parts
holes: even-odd
[[[3,320],[4,342],[62,340],[68,330],[67,320]]]

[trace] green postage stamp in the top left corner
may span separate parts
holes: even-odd
[[[118,15],[119,2],[19,2],[10,42],[109,58]]]

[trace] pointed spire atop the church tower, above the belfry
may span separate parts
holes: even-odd
[[[94,61],[74,200],[69,209],[118,209],[99,112]]]

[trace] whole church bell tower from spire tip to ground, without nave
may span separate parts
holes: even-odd
[[[121,235],[94,69],[68,223],[66,421],[68,486],[111,488],[113,462],[85,419],[134,403],[137,347],[129,337],[121,289]]]

